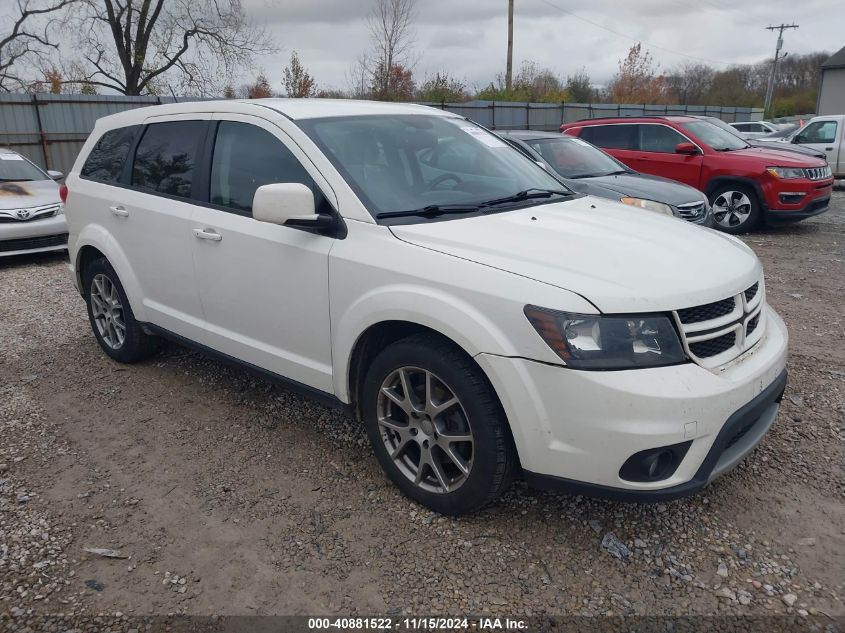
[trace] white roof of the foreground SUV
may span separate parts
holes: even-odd
[[[235,112],[256,114],[258,108],[274,110],[292,119],[316,119],[331,116],[362,116],[375,114],[428,114],[457,117],[438,108],[415,103],[390,103],[385,101],[356,101],[353,99],[221,99],[217,101],[185,101],[166,103],[145,108],[126,110],[103,117],[107,127],[138,124],[147,117],[174,114]],[[99,121],[98,121],[99,124]]]

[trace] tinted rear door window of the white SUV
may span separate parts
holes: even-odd
[[[147,126],[135,152],[132,184],[190,198],[194,165],[205,130],[205,121],[169,121]]]

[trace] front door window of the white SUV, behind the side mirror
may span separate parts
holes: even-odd
[[[279,139],[255,125],[222,121],[211,163],[211,203],[251,213],[255,190],[276,182],[314,190],[311,176]]]

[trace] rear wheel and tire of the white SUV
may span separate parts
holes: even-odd
[[[94,337],[111,358],[120,363],[135,363],[158,350],[161,339],[141,329],[108,260],[101,257],[88,265],[83,275],[83,291]]]

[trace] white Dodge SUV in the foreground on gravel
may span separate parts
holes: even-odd
[[[67,179],[94,335],[348,407],[448,514],[536,486],[690,494],[773,423],[787,333],[730,236],[574,194],[472,122],[269,99],[101,119]]]

